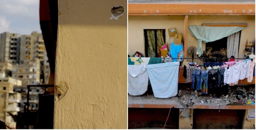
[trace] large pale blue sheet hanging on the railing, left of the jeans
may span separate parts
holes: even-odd
[[[178,70],[180,62],[148,64],[149,80],[155,97],[169,98],[178,92]]]

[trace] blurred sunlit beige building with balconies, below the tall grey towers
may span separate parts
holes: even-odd
[[[16,122],[10,114],[17,115],[23,108],[21,94],[13,90],[14,86],[21,86],[22,81],[12,78],[11,74],[12,64],[0,62],[0,120],[15,129]]]

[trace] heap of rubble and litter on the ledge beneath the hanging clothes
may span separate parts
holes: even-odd
[[[254,86],[229,86],[228,95],[215,97],[215,95],[204,95],[200,91],[193,89],[179,90],[176,95],[177,102],[184,108],[191,107],[193,103],[211,103],[217,105],[248,105],[255,104]]]

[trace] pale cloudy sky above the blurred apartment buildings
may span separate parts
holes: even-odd
[[[0,0],[0,33],[41,33],[39,0]]]

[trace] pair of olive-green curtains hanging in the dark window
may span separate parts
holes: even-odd
[[[164,36],[162,34],[162,29],[156,29],[156,37],[157,37],[157,52],[155,51],[155,29],[147,30],[148,37],[148,57],[156,57],[156,53],[159,53],[159,46],[165,45]]]

